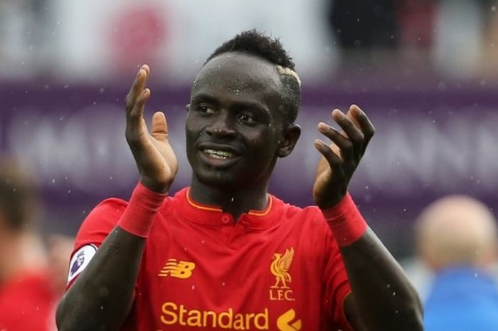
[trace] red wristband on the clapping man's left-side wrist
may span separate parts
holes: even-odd
[[[133,190],[121,219],[117,221],[117,226],[135,236],[147,238],[152,228],[154,216],[161,208],[164,198],[166,198],[166,194],[152,191],[139,182]]]

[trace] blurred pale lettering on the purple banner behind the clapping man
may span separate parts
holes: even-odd
[[[302,187],[312,183],[319,157],[313,147],[319,137],[316,123],[328,112],[305,107],[300,114],[301,140],[275,172],[277,182],[286,183],[292,176],[292,185],[286,186],[290,193],[302,194]],[[6,149],[31,165],[45,186],[65,181],[88,193],[112,194],[137,181],[119,107],[100,105],[63,113],[68,117],[18,110],[4,127],[4,137],[9,137]],[[384,194],[410,196],[421,187],[445,193],[470,189],[470,183],[484,193],[496,190],[498,114],[472,117],[472,112],[462,109],[438,122],[431,116],[415,117],[416,113],[393,117],[378,116],[375,110],[370,113],[377,134],[355,175],[353,190],[371,185],[371,189],[386,189]],[[171,142],[181,164],[176,184],[186,185],[190,167],[184,152],[184,117],[169,116],[169,120]]]

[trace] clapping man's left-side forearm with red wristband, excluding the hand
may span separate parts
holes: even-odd
[[[57,311],[60,331],[118,330],[132,305],[147,236],[165,194],[138,184],[110,231]]]

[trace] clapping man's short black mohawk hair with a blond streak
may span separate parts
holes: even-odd
[[[282,68],[295,70],[294,61],[280,43],[278,38],[271,38],[255,29],[243,31],[216,48],[207,58],[206,63],[223,53],[239,52],[258,56]],[[297,117],[301,104],[301,86],[296,77],[280,75],[282,82],[282,110],[285,115],[285,125],[292,124]]]

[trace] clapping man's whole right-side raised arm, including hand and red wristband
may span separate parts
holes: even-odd
[[[369,118],[356,105],[332,117],[342,132],[320,122],[318,130],[332,140],[314,142],[322,153],[313,198],[334,232],[346,266],[351,295],[344,310],[357,331],[423,330],[422,307],[401,266],[364,223],[347,194],[354,170],[375,132]]]

